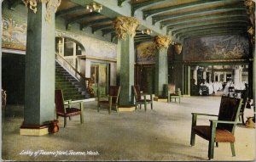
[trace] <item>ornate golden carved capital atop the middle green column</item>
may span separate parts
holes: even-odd
[[[118,38],[125,40],[126,35],[136,35],[139,21],[134,17],[119,16],[113,20],[113,25]]]

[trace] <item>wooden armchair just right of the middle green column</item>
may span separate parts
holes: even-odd
[[[142,109],[142,104],[144,104],[145,111],[147,111],[147,104],[151,104],[151,109],[153,109],[152,94],[141,93],[140,87],[138,85],[132,86],[132,89],[135,96],[136,109],[138,105],[140,106],[140,109]],[[147,99],[147,95],[150,96],[150,99]]]

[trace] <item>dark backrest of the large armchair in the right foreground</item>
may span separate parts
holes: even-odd
[[[222,96],[218,112],[218,120],[236,121],[240,113],[241,101],[241,98],[229,98]],[[236,125],[224,123],[218,123],[217,125],[217,128],[230,132],[233,132],[235,127]]]

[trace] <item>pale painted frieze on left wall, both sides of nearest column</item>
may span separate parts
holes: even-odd
[[[56,29],[55,36],[69,37],[81,43],[85,54],[97,58],[116,59],[117,45],[96,38]],[[26,50],[26,23],[20,23],[7,16],[3,17],[2,47]]]

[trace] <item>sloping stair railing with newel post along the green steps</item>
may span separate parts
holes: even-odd
[[[79,79],[79,81],[84,82],[84,86],[87,90],[87,92],[90,93],[91,97],[95,96],[95,92],[93,90],[93,88],[91,87],[91,78],[85,77],[84,74],[80,73],[76,68],[73,67],[72,64],[70,64],[65,58],[63,58],[59,53],[55,53],[56,54],[56,59],[60,58],[62,61],[64,61],[65,64],[68,65],[68,69],[69,70],[73,70],[74,71],[74,75],[79,75],[79,77],[77,77],[77,79]],[[62,64],[64,66],[64,64]],[[70,71],[71,72],[71,71]]]

